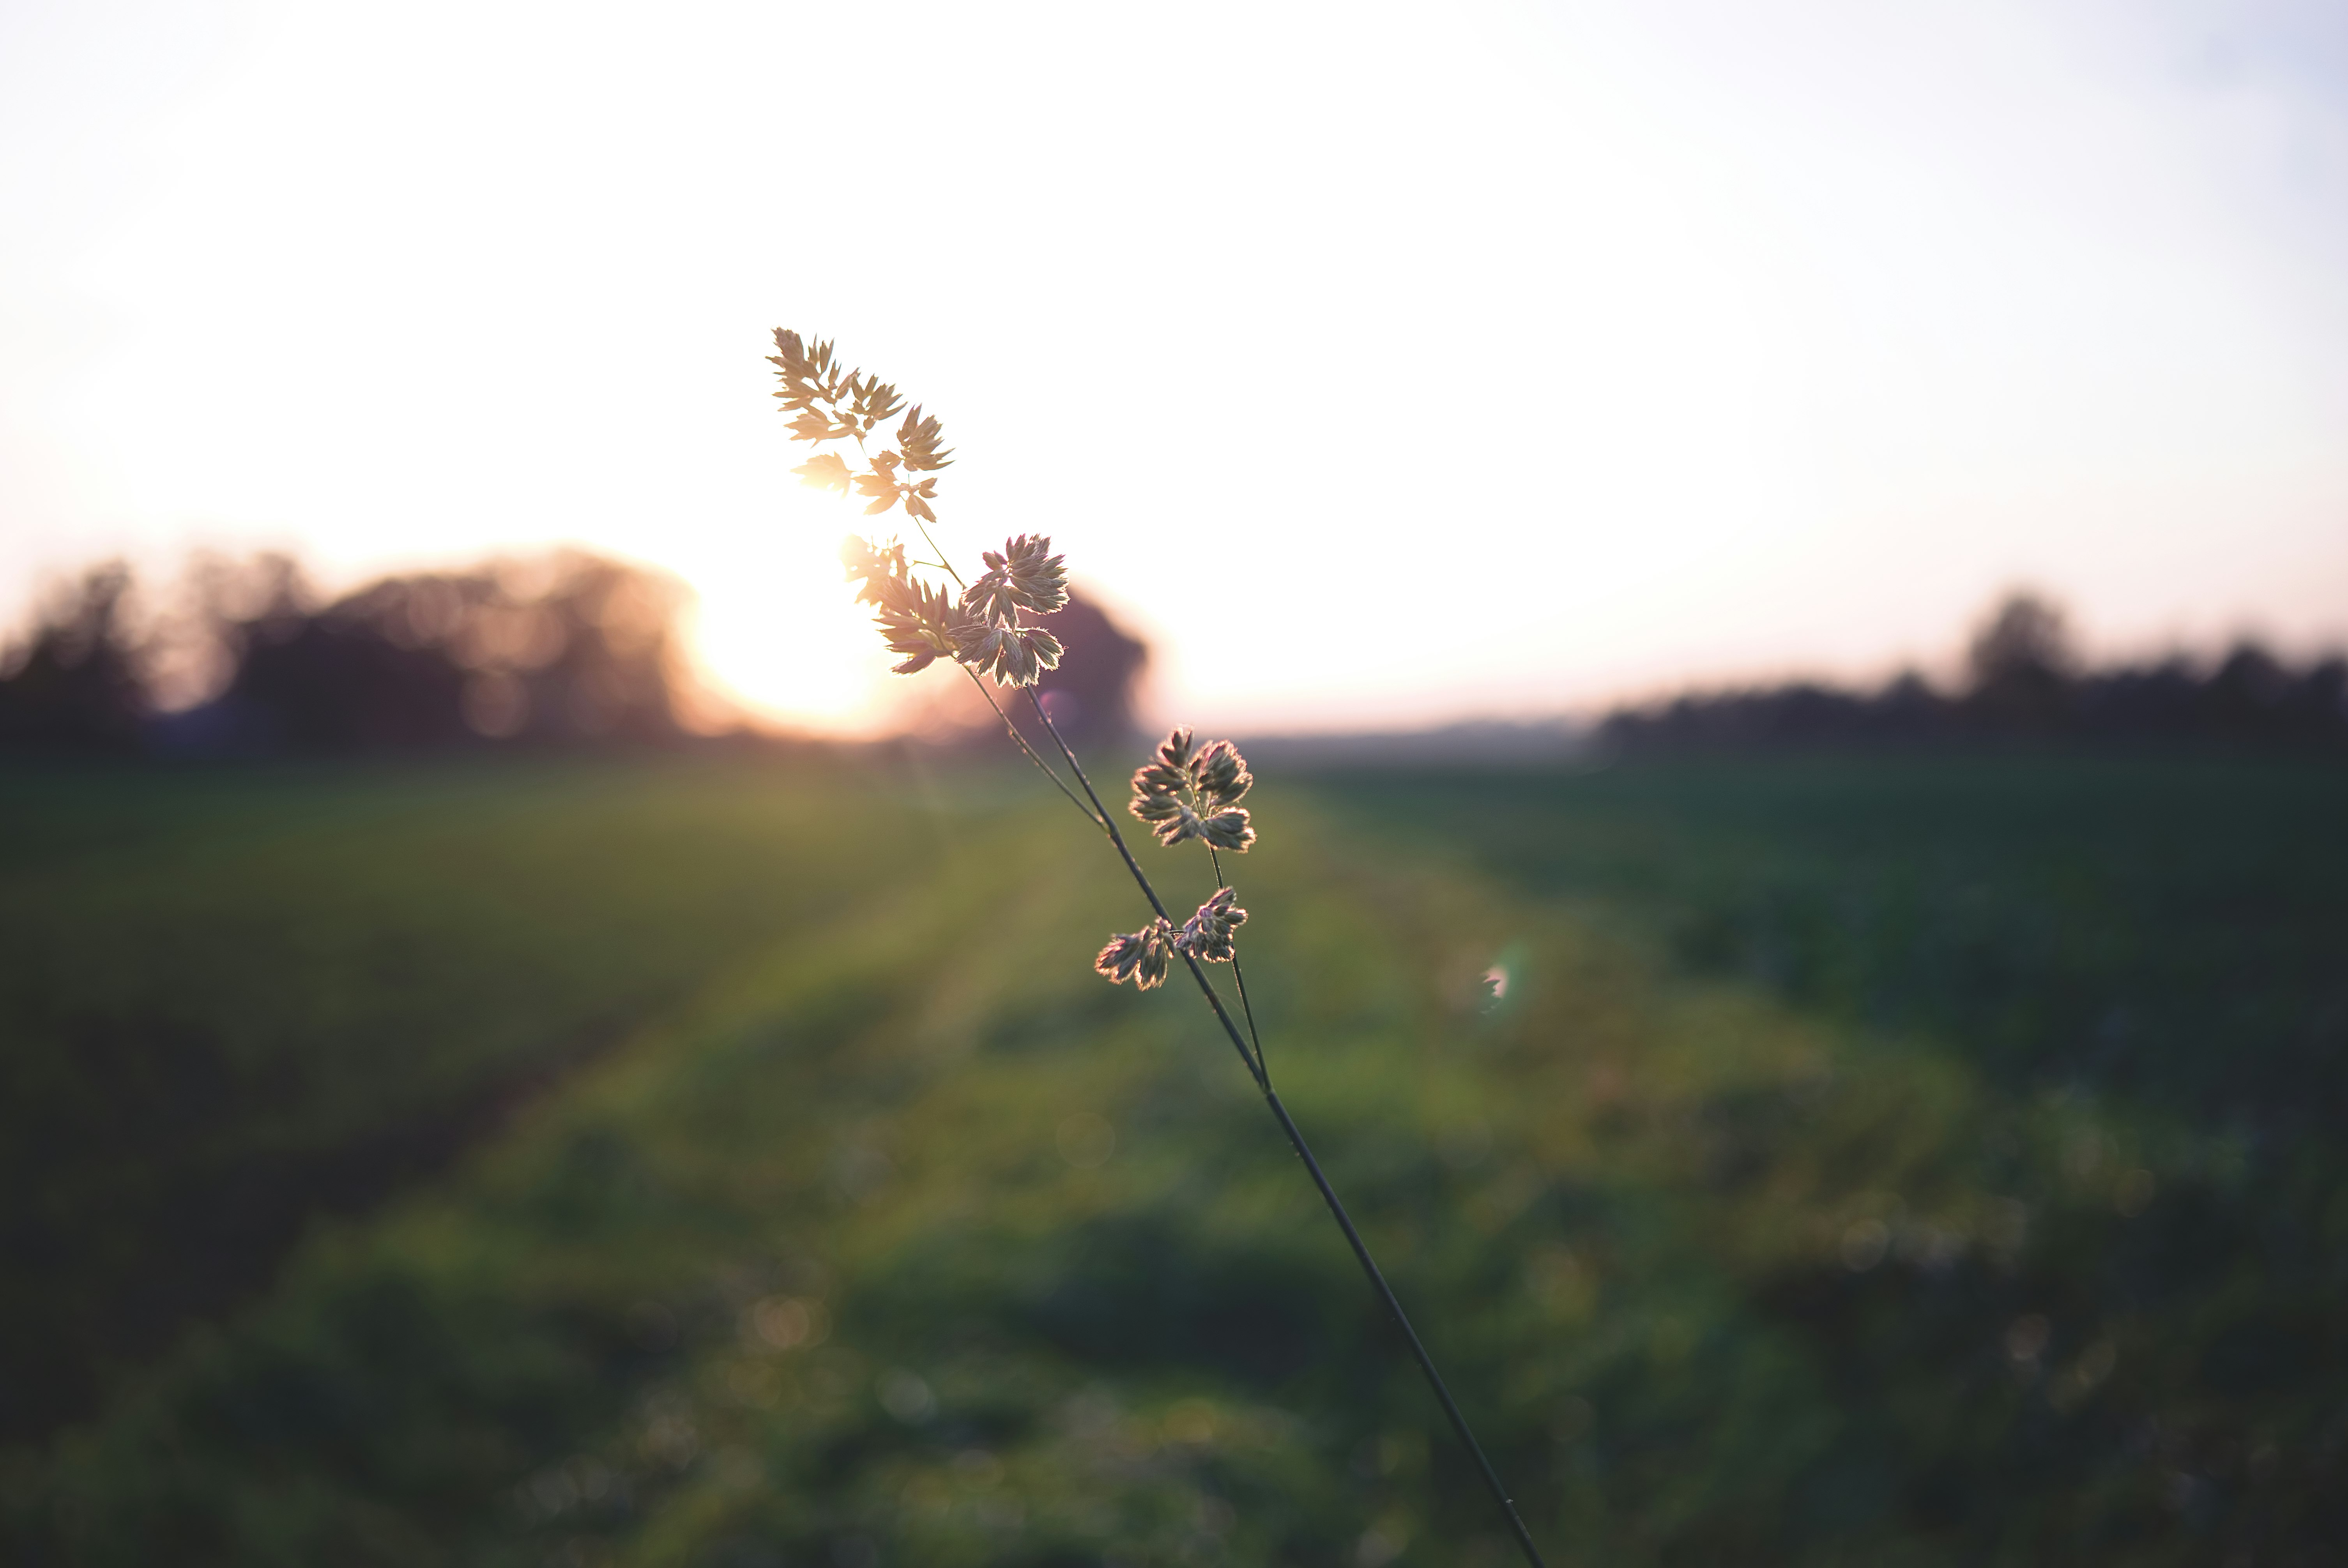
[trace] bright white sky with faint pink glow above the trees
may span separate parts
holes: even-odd
[[[0,587],[573,540],[871,723],[765,333],[1240,728],[2348,638],[2336,0],[0,0]]]

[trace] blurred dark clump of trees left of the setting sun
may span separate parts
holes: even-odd
[[[101,753],[380,753],[679,737],[679,582],[585,552],[383,577],[322,601],[284,556],[207,563],[176,627],[92,568],[0,657],[0,746]],[[204,664],[157,711],[150,676]]]

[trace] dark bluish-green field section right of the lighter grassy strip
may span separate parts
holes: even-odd
[[[2348,1117],[2348,775],[2261,758],[1763,758],[1322,779],[1700,972],[2015,1089]]]

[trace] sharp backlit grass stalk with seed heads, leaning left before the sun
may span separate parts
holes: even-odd
[[[977,685],[979,695],[996,709],[996,716],[1003,718],[1003,728],[1019,751],[1052,779],[1075,810],[1085,812],[1085,819],[1108,840],[1118,859],[1125,861],[1151,908],[1151,920],[1134,932],[1111,937],[1108,946],[1092,960],[1094,972],[1111,984],[1132,981],[1139,991],[1153,991],[1172,974],[1174,960],[1181,960],[1190,979],[1197,981],[1200,995],[1240,1054],[1240,1061],[1247,1063],[1247,1073],[1280,1122],[1280,1131],[1296,1148],[1305,1171],[1313,1174],[1313,1183],[1345,1232],[1345,1242],[1362,1263],[1371,1289],[1392,1314],[1395,1326],[1402,1329],[1402,1338],[1435,1390],[1444,1415],[1451,1420],[1451,1430],[1458,1432],[1460,1444],[1475,1455],[1484,1483],[1507,1516],[1519,1549],[1526,1561],[1540,1568],[1540,1552],[1517,1516],[1507,1488],[1500,1486],[1491,1460],[1484,1458],[1475,1432],[1468,1430],[1468,1418],[1460,1415],[1425,1345],[1418,1343],[1418,1333],[1411,1331],[1411,1319],[1402,1312],[1402,1303],[1395,1300],[1385,1275],[1378,1272],[1376,1261],[1369,1256],[1362,1232],[1355,1230],[1352,1218],[1348,1218],[1345,1207],[1329,1188],[1329,1178],[1305,1145],[1294,1117],[1289,1117],[1287,1106],[1273,1091],[1273,1077],[1263,1063],[1263,1040],[1256,1033],[1256,1014],[1247,1002],[1247,972],[1240,967],[1237,930],[1247,922],[1247,911],[1240,908],[1237,892],[1223,876],[1223,852],[1244,854],[1256,843],[1254,817],[1240,805],[1256,782],[1247,770],[1247,758],[1228,739],[1197,744],[1188,728],[1176,728],[1160,742],[1155,756],[1134,772],[1127,810],[1151,824],[1158,843],[1169,850],[1193,840],[1205,845],[1207,859],[1214,866],[1214,897],[1176,927],[1172,911],[1167,911],[1141,861],[1134,859],[1132,847],[1127,847],[1125,836],[1118,831],[1115,815],[1101,803],[1092,779],[1085,777],[1082,763],[1075,761],[1075,751],[1068,749],[1068,742],[1035,695],[1035,681],[1043,671],[1057,669],[1066,653],[1050,629],[1035,624],[1068,603],[1066,559],[1052,554],[1050,538],[1021,533],[1005,540],[1003,549],[984,549],[979,554],[984,568],[965,577],[930,533],[930,526],[939,521],[935,505],[939,469],[951,467],[953,455],[951,448],[939,444],[942,430],[937,415],[925,415],[920,404],[916,404],[904,413],[897,430],[888,432],[888,420],[895,420],[904,411],[897,387],[864,371],[848,369],[834,354],[831,343],[808,347],[796,331],[775,329],[775,354],[768,364],[775,366],[782,380],[782,390],[775,397],[782,399],[782,411],[791,415],[791,439],[819,448],[791,472],[819,491],[862,498],[864,514],[873,519],[883,519],[902,507],[920,535],[920,547],[927,552],[913,554],[897,533],[888,538],[850,535],[841,547],[848,580],[859,584],[857,601],[873,606],[873,620],[890,653],[904,655],[895,671],[913,676],[939,660],[960,664],[970,683]],[[855,446],[855,462],[850,462],[845,448],[822,451],[836,441]],[[873,526],[878,528],[878,523]],[[1059,761],[1068,770],[1066,777],[1019,735],[1019,728],[1012,725],[996,699],[998,690],[1026,697],[1043,732],[1052,737]],[[1205,965],[1223,962],[1230,965],[1240,1016],[1247,1021],[1244,1028],[1233,1019],[1230,1007],[1223,1005],[1223,995],[1205,969]]]

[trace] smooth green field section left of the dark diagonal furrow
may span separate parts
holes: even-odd
[[[0,812],[0,1439],[911,864],[805,768],[56,770]]]

